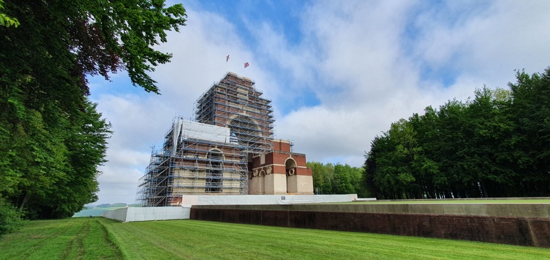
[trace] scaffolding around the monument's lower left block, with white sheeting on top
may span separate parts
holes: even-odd
[[[142,206],[176,206],[186,194],[248,194],[248,157],[229,128],[185,121],[165,135],[137,187]]]

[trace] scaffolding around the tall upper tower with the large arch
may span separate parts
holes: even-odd
[[[230,128],[232,138],[250,154],[272,150],[274,116],[271,100],[250,78],[228,72],[195,102],[195,121]]]

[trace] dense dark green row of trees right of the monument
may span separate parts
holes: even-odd
[[[550,196],[550,69],[392,123],[364,169],[379,199]]]

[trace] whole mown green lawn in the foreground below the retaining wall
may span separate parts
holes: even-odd
[[[550,259],[550,249],[197,220],[32,221],[0,259]]]

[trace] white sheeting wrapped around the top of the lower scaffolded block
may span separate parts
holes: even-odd
[[[208,123],[198,123],[178,118],[173,124],[173,139],[199,139],[219,143],[230,143],[230,129],[223,126],[214,126]],[[173,146],[173,153],[176,152],[176,145]]]

